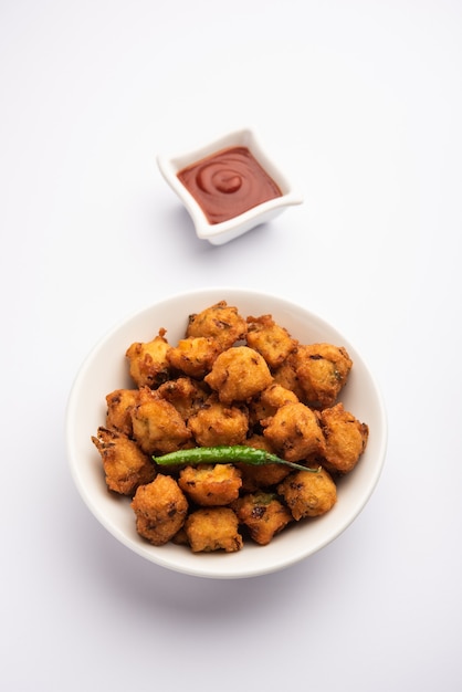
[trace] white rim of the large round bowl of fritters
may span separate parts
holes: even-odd
[[[217,568],[217,562],[212,563],[209,556],[206,556],[206,559],[201,559],[203,555],[197,556],[193,555],[193,560],[187,559],[186,562],[181,559],[176,559],[175,556],[171,555],[171,552],[166,549],[168,546],[161,546],[160,549],[153,551],[154,546],[150,546],[147,542],[139,541],[139,536],[134,539],[132,536],[127,536],[126,532],[124,532],[117,523],[111,521],[108,516],[103,511],[101,504],[95,502],[92,494],[88,492],[88,487],[85,485],[83,474],[80,470],[78,461],[76,459],[76,444],[74,434],[75,434],[75,421],[78,415],[80,408],[80,397],[82,395],[82,387],[85,382],[85,376],[87,375],[87,370],[91,369],[94,359],[102,353],[102,349],[111,342],[115,335],[127,325],[130,325],[134,321],[143,318],[144,315],[149,314],[151,311],[156,308],[160,308],[161,306],[166,306],[170,303],[178,303],[185,300],[185,296],[188,298],[201,300],[207,303],[209,297],[214,300],[212,296],[223,295],[223,300],[227,300],[229,304],[231,304],[231,300],[234,301],[234,304],[239,310],[239,297],[250,297],[252,300],[261,301],[262,305],[264,305],[264,301],[270,301],[273,304],[277,304],[280,307],[286,307],[287,310],[295,310],[302,316],[306,316],[309,318],[311,323],[314,322],[317,327],[326,328],[327,332],[332,332],[338,334],[338,336],[343,340],[343,345],[349,350],[349,353],[355,354],[356,360],[360,359],[361,367],[365,369],[367,377],[369,378],[369,385],[375,395],[375,403],[377,408],[378,418],[380,421],[378,433],[380,439],[378,441],[378,448],[376,451],[376,461],[374,464],[374,471],[370,473],[370,478],[367,483],[367,487],[363,491],[360,499],[355,502],[354,508],[347,513],[346,517],[334,526],[330,531],[328,531],[312,546],[311,549],[306,551],[301,548],[300,545],[295,544],[297,549],[294,551],[293,554],[286,555],[283,559],[279,559],[277,564],[259,564],[259,562],[253,562],[250,566],[237,569],[233,566],[232,560],[229,559],[228,555],[219,556],[220,562],[219,568]],[[212,303],[210,303],[212,304]],[[244,312],[244,311],[242,311]],[[159,325],[160,326],[160,325]],[[353,411],[355,412],[355,411]],[[102,421],[103,424],[103,421]],[[91,434],[94,434],[95,431],[91,430]],[[128,315],[117,321],[111,328],[108,328],[105,334],[103,334],[95,343],[91,350],[87,353],[86,357],[82,361],[80,368],[77,369],[76,376],[71,387],[71,391],[69,395],[66,411],[65,411],[65,440],[66,440],[66,452],[67,452],[67,461],[71,470],[72,479],[75,483],[75,486],[83,500],[84,504],[86,504],[87,508],[91,513],[96,517],[96,520],[112,534],[119,543],[128,547],[132,552],[138,554],[139,556],[148,559],[149,562],[157,564],[158,566],[166,567],[170,570],[182,573],[190,576],[197,577],[206,577],[206,578],[216,578],[216,579],[235,579],[235,578],[249,578],[262,576],[264,574],[280,572],[281,569],[285,569],[291,565],[294,565],[298,562],[302,562],[314,555],[319,549],[335,541],[342,533],[350,526],[350,524],[357,518],[357,516],[361,513],[365,505],[368,503],[370,496],[372,495],[379,478],[382,472],[382,468],[385,464],[386,452],[387,452],[387,439],[388,436],[388,424],[387,424],[387,413],[384,402],[384,397],[381,395],[381,390],[378,386],[378,382],[372,375],[370,368],[368,367],[364,357],[358,353],[358,350],[351,345],[351,343],[337,329],[326,322],[324,318],[319,317],[316,313],[311,310],[304,307],[300,303],[295,303],[290,298],[282,297],[281,295],[275,295],[269,292],[261,292],[254,289],[235,289],[235,287],[206,287],[206,289],[197,289],[191,291],[177,292],[167,296],[161,297],[156,302],[151,302],[144,307],[139,307],[138,310],[132,311]],[[351,472],[354,473],[354,472]],[[118,500],[118,499],[117,499]],[[125,500],[125,499],[124,499]],[[330,511],[333,514],[334,511]],[[329,514],[329,513],[328,513]],[[325,515],[327,516],[327,515]],[[322,517],[321,517],[322,518]],[[135,522],[133,522],[135,524]],[[282,536],[286,538],[286,536]],[[177,547],[177,546],[176,546]],[[256,549],[264,549],[259,546]],[[245,548],[244,548],[245,549]],[[244,551],[240,551],[232,555],[242,554]],[[188,554],[189,555],[189,554]],[[228,559],[227,559],[228,558]],[[207,563],[210,563],[208,566]],[[186,564],[187,563],[187,564]],[[245,563],[244,563],[245,564]]]

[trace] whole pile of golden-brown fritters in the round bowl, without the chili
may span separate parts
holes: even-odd
[[[92,440],[109,491],[132,497],[138,533],[193,553],[267,545],[292,522],[337,500],[337,479],[363,454],[368,427],[338,400],[353,363],[342,346],[300,344],[271,315],[243,317],[221,301],[189,316],[171,345],[160,328],[127,352],[133,388],[107,395]],[[153,457],[243,444],[290,466],[159,466]]]

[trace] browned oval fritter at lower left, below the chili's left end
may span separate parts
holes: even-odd
[[[165,545],[185,524],[188,501],[175,479],[159,473],[138,487],[132,507],[139,535],[153,545]]]

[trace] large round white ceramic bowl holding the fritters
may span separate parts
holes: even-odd
[[[238,553],[192,554],[185,546],[155,547],[136,532],[129,500],[111,494],[101,458],[91,441],[106,415],[105,396],[130,387],[125,352],[133,342],[149,340],[160,327],[174,344],[181,338],[188,315],[225,300],[244,315],[272,314],[302,343],[330,342],[345,346],[354,360],[340,400],[369,426],[367,449],[359,463],[338,486],[338,500],[324,516],[291,525],[267,546],[245,544]],[[84,361],[69,399],[66,440],[76,486],[95,517],[125,546],[169,569],[211,578],[254,577],[283,569],[319,551],[342,534],[369,500],[385,461],[387,421],[384,403],[370,370],[354,346],[333,326],[305,307],[283,298],[239,289],[204,289],[175,295],[146,307],[115,326]]]

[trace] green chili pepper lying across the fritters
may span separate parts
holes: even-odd
[[[311,473],[317,473],[319,471],[319,468],[308,469],[302,464],[280,459],[280,457],[270,454],[270,452],[266,452],[265,450],[245,447],[244,444],[195,447],[192,449],[185,449],[179,450],[178,452],[162,454],[162,457],[153,457],[153,460],[161,466],[181,464],[192,466],[200,463],[246,463],[260,466],[263,464],[276,463],[291,466],[291,469],[296,469],[297,471],[309,471]]]

